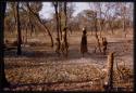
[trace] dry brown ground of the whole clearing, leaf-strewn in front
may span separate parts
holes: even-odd
[[[103,91],[106,72],[102,69],[107,64],[109,52],[115,52],[114,63],[119,64],[122,74],[114,64],[114,88],[133,90],[133,34],[127,38],[115,32],[114,36],[102,34],[108,38],[108,53],[94,53],[95,37],[88,32],[89,52],[82,57],[79,41],[82,32],[69,36],[69,57],[58,57],[49,46],[50,39],[45,36],[29,37],[28,43],[23,46],[23,54],[17,56],[16,50],[5,51],[5,74],[11,82],[12,91]],[[13,38],[12,38],[13,39]],[[33,42],[32,46],[28,44]],[[125,65],[124,65],[125,64]],[[125,78],[124,78],[125,77]],[[5,89],[9,90],[9,89]]]

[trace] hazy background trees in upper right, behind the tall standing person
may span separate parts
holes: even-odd
[[[96,12],[97,28],[99,31],[111,30],[133,27],[133,3],[124,2],[91,2],[90,9],[84,10],[73,18],[73,23],[76,21],[77,28],[87,26],[88,29],[95,30],[94,12]]]

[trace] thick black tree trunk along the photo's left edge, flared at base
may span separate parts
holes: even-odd
[[[10,85],[10,83],[8,82],[7,78],[5,78],[5,72],[4,72],[4,50],[3,50],[3,38],[4,38],[4,35],[3,35],[3,30],[4,30],[4,13],[5,13],[5,6],[7,6],[7,2],[5,1],[1,1],[0,2],[0,6],[1,6],[1,10],[0,10],[0,14],[1,14],[1,17],[0,17],[0,91],[3,90],[3,88],[7,88]]]

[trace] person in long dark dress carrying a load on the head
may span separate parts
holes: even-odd
[[[82,42],[81,42],[81,53],[83,54],[83,57],[84,57],[84,54],[88,52],[88,49],[87,49],[87,36],[86,36],[86,29],[83,28],[83,36],[82,36]]]

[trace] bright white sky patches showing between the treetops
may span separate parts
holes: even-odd
[[[73,2],[75,3],[73,16],[76,16],[83,10],[89,9],[88,2]],[[52,17],[52,13],[54,13],[54,8],[51,6],[51,2],[44,2],[42,10],[39,12],[42,18],[50,18]]]

